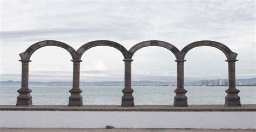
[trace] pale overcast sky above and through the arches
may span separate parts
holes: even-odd
[[[33,43],[57,40],[78,49],[93,40],[111,40],[130,49],[145,40],[162,40],[179,50],[191,42],[213,40],[238,53],[237,78],[255,77],[254,1],[1,1],[0,80],[21,80],[22,53]],[[94,47],[82,57],[80,80],[124,80],[122,54]],[[185,82],[227,78],[225,55],[197,47],[186,55]],[[72,81],[71,56],[43,47],[31,57],[30,81]],[[145,47],[133,56],[132,80],[175,82],[174,55]]]

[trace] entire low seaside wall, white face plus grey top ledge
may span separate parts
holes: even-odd
[[[256,129],[256,105],[14,106],[0,105],[0,128]]]

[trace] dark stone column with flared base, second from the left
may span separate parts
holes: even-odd
[[[69,91],[69,106],[83,106],[83,97],[80,95],[83,91],[79,88],[80,82],[80,62],[82,60],[71,60],[73,62],[73,87]]]

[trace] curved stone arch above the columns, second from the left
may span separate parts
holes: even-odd
[[[124,58],[127,58],[128,56],[127,49],[124,46],[120,45],[119,43],[110,41],[110,40],[96,40],[96,41],[85,43],[83,46],[81,46],[77,50],[77,54],[78,54],[77,59],[80,60],[84,52],[86,52],[86,50],[96,46],[110,46],[118,49],[123,54]]]

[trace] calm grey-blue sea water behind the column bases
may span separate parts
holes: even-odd
[[[19,86],[0,86],[0,105],[15,105]],[[71,86],[30,86],[33,105],[68,105]],[[120,105],[122,86],[81,86],[84,105]],[[175,86],[133,86],[135,105],[172,105]],[[185,86],[188,105],[224,104],[227,86]],[[255,86],[237,86],[241,104],[256,104]]]

